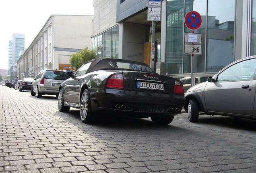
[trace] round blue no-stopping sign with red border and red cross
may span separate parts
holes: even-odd
[[[202,24],[202,17],[198,12],[190,11],[185,15],[184,22],[189,29],[196,30]]]

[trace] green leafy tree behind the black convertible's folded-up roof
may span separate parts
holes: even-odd
[[[80,52],[76,52],[70,57],[70,66],[78,70],[85,62],[93,59],[92,50],[88,47],[83,48]]]

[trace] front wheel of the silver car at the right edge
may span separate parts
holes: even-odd
[[[188,120],[192,123],[198,122],[199,105],[194,99],[188,101]]]

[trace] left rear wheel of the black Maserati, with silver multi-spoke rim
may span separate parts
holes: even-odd
[[[93,112],[91,110],[91,99],[88,89],[83,91],[80,99],[80,117],[83,123],[93,122]]]

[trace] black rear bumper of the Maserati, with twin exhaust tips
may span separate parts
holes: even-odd
[[[106,89],[91,92],[91,106],[95,111],[113,111],[118,115],[150,117],[151,115],[176,115],[184,105],[184,95],[150,93],[142,91],[124,91]],[[125,108],[116,108],[124,105]]]

